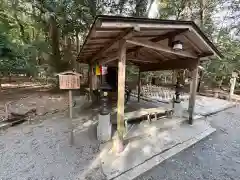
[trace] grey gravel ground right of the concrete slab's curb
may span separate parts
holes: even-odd
[[[136,180],[240,179],[240,108],[207,119],[217,132]]]

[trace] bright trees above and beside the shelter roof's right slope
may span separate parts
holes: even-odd
[[[238,0],[156,0],[161,19],[192,20],[225,56],[206,61],[203,73],[214,83],[228,82],[239,67],[239,1]]]

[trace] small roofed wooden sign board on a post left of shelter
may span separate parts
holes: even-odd
[[[80,89],[80,74],[63,72],[58,74],[60,89]]]

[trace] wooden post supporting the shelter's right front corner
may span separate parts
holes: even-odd
[[[192,70],[192,81],[190,84],[190,98],[188,104],[188,112],[189,112],[189,124],[193,123],[193,113],[195,107],[195,100],[196,100],[196,92],[197,92],[197,83],[198,83],[198,62],[197,60],[194,69]]]

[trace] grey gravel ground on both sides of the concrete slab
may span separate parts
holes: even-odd
[[[136,180],[239,179],[239,110],[232,108],[209,117],[217,132]],[[97,141],[81,129],[75,134],[75,145],[70,146],[68,127],[68,119],[55,117],[12,127],[1,134],[0,179],[105,179],[96,160]]]

